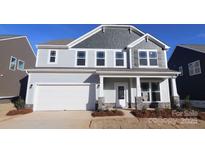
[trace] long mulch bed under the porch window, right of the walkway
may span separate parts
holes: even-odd
[[[191,111],[162,110],[133,110],[131,113],[138,118],[199,118],[205,119],[205,113]]]

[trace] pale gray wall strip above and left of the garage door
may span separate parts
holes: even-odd
[[[98,77],[91,73],[31,73],[29,74],[26,104],[33,104],[37,83],[97,83]],[[32,85],[32,86],[31,86]]]

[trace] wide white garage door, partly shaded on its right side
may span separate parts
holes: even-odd
[[[95,84],[38,84],[34,110],[94,110]]]

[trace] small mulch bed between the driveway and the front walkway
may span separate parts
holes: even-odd
[[[91,115],[93,117],[123,116],[124,113],[120,110],[105,110],[105,111],[95,111]]]

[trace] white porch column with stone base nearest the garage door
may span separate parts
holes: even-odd
[[[98,96],[98,110],[103,110],[104,105],[104,77],[100,76],[100,84],[99,84],[99,96]]]

